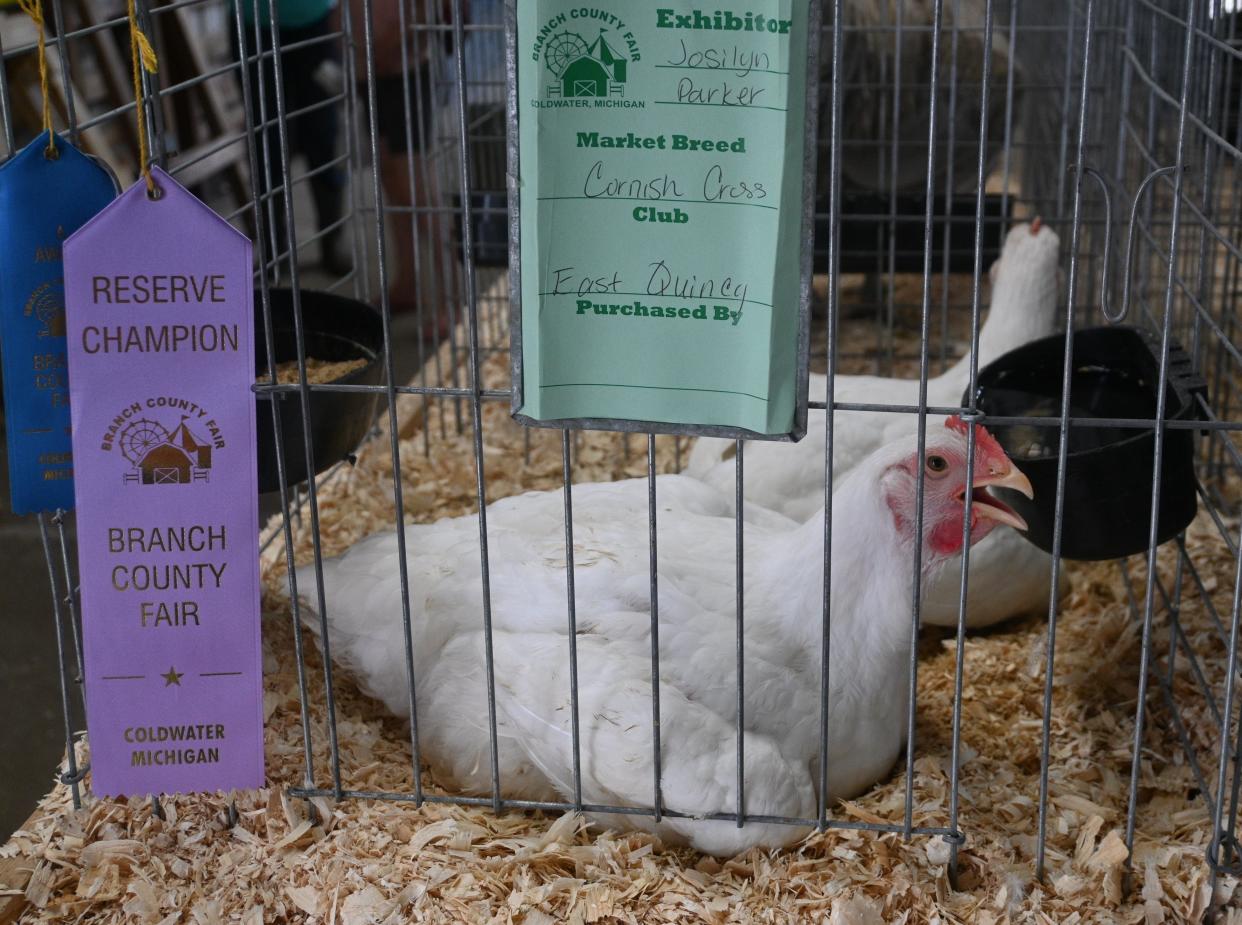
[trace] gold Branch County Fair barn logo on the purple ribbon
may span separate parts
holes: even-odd
[[[214,454],[224,447],[220,427],[206,408],[175,397],[128,405],[102,441],[102,449],[124,461],[122,482],[127,485],[206,483]]]

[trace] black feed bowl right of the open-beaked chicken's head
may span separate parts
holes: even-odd
[[[1071,417],[1154,421],[1160,381],[1160,341],[1128,327],[1074,333]],[[1061,417],[1064,335],[1032,341],[979,372],[977,407],[987,417]],[[1203,381],[1190,358],[1170,344],[1166,420],[1197,418]],[[968,404],[969,392],[963,396]],[[1026,538],[1052,551],[1059,430],[991,425],[1017,467],[1031,479],[1035,499],[999,489],[997,495],[1027,521]],[[1133,427],[1069,427],[1061,555],[1104,560],[1143,553],[1151,526],[1155,431]],[[1160,469],[1158,543],[1176,536],[1197,509],[1194,431],[1165,428]]]

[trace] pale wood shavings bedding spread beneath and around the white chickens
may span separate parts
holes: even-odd
[[[847,327],[848,330],[848,327]],[[487,387],[508,384],[507,358],[482,369]],[[412,405],[410,406],[412,407]],[[441,418],[443,415],[443,420]],[[502,402],[486,402],[484,474],[488,498],[555,488],[561,478],[560,433],[527,435]],[[465,420],[468,421],[468,406]],[[451,404],[432,406],[420,425],[433,435],[424,454],[420,427],[402,427],[406,514],[433,520],[474,509],[468,428],[457,435]],[[446,436],[440,437],[441,423]],[[646,471],[646,441],[584,433],[575,440],[575,479],[610,479]],[[672,438],[657,440],[657,468],[672,471]],[[323,551],[339,553],[363,535],[391,529],[392,468],[386,438],[359,453],[358,464],[327,482],[319,495]],[[1200,518],[1187,548],[1218,612],[1231,612],[1233,559]],[[296,555],[310,554],[296,535]],[[1131,579],[1144,577],[1130,560]],[[1161,550],[1171,587],[1174,553]],[[939,838],[903,842],[897,834],[830,829],[784,852],[751,851],[720,862],[668,848],[640,833],[589,828],[573,813],[505,813],[385,801],[307,803],[284,796],[304,782],[302,720],[293,632],[271,593],[283,581],[279,543],[265,555],[268,593],[263,621],[265,714],[270,787],[236,795],[230,827],[226,795],[164,802],[87,800],[71,810],[57,786],[32,822],[0,848],[0,884],[16,883],[24,921],[83,923],[1177,923],[1195,921],[1211,899],[1203,851],[1211,826],[1174,723],[1153,685],[1140,778],[1133,889],[1124,889],[1125,801],[1134,734],[1141,627],[1129,615],[1115,564],[1072,565],[1073,591],[1057,627],[1047,824],[1047,877],[1033,880],[1046,620],[1031,617],[965,641],[958,889],[948,879],[949,848]],[[1210,683],[1222,689],[1223,648],[1189,576],[1181,626]],[[1167,618],[1156,617],[1164,672]],[[946,826],[955,639],[929,632],[920,644],[913,822]],[[314,781],[330,781],[323,666],[307,647]],[[1187,659],[1177,659],[1174,689],[1199,760],[1215,775],[1210,708]],[[344,785],[409,792],[414,787],[409,733],[337,674],[338,731]],[[79,760],[87,757],[79,746]],[[1215,780],[1215,777],[1212,777]],[[442,792],[422,772],[428,792]],[[862,797],[833,808],[838,819],[900,822],[904,762]],[[5,860],[7,858],[7,860]],[[4,867],[7,865],[7,867]],[[5,873],[16,868],[31,872]],[[20,883],[19,883],[20,879]],[[1231,899],[1235,878],[1216,896],[1221,920],[1242,923]],[[4,890],[0,889],[0,901]],[[0,905],[2,910],[2,905]],[[0,923],[4,921],[0,911]]]

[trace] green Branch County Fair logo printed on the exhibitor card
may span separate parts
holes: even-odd
[[[585,11],[591,12],[591,11]],[[540,32],[535,42],[537,58],[551,76],[546,84],[550,99],[617,99],[625,97],[631,61],[637,61],[633,36],[612,14],[600,14],[610,27],[599,26],[592,40],[580,32],[556,29],[565,21],[558,16]],[[628,47],[630,55],[617,51]]]

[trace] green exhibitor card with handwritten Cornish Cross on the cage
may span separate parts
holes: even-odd
[[[800,437],[816,0],[509,12],[517,417]]]

